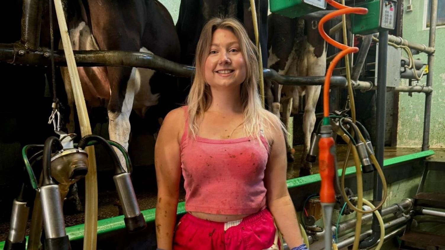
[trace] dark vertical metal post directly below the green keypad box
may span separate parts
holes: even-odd
[[[388,31],[379,33],[380,44],[388,44]],[[386,65],[388,59],[388,46],[379,46],[378,51],[378,65],[377,65],[377,93],[376,93],[376,158],[378,163],[383,166],[384,159],[384,145],[385,145],[385,111],[386,111]],[[377,173],[374,171],[374,188],[372,200],[374,204],[380,203],[382,200],[382,181]],[[379,210],[381,213],[381,210]],[[372,233],[369,238],[360,242],[359,248],[368,248],[373,246],[380,237],[380,226],[377,217],[372,215]]]

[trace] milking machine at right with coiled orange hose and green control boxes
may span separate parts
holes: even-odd
[[[353,14],[355,18],[354,27],[359,27],[360,31],[366,30],[371,32],[380,31],[382,29],[392,29],[394,28],[395,15],[393,8],[395,7],[395,0],[384,0],[384,1],[368,1],[372,2],[371,5],[366,5],[364,7],[372,6],[371,14],[366,17],[363,15],[368,13],[367,8],[351,8],[344,5],[344,0],[342,4],[337,3],[334,0],[326,1],[315,1],[312,0],[291,0],[291,1],[281,1],[274,0],[271,1],[271,12],[276,12],[284,16],[291,18],[307,15],[308,13],[319,10],[320,8],[326,9],[326,4],[332,5],[332,7],[338,10],[328,13],[326,16],[321,18],[318,23],[318,29],[320,35],[329,44],[340,49],[340,52],[334,57],[331,64],[328,67],[326,78],[324,82],[324,93],[323,93],[323,109],[324,118],[317,126],[317,129],[312,134],[309,153],[307,155],[308,162],[315,162],[316,158],[319,158],[319,169],[321,176],[321,189],[320,189],[320,203],[323,210],[323,221],[324,221],[324,249],[336,249],[336,244],[332,244],[332,232],[331,232],[331,219],[332,212],[335,206],[339,207],[338,204],[345,204],[343,208],[348,205],[349,208],[357,212],[357,223],[355,231],[355,240],[353,250],[357,250],[360,243],[360,230],[361,230],[361,217],[362,214],[375,213],[377,220],[380,222],[380,243],[377,249],[380,249],[384,237],[383,221],[381,220],[378,210],[384,203],[386,198],[386,181],[383,175],[383,171],[377,161],[374,151],[372,149],[372,143],[368,131],[360,122],[356,121],[355,117],[355,103],[352,92],[351,83],[351,72],[349,69],[349,59],[348,54],[353,52],[358,52],[359,49],[356,47],[349,47],[347,44],[346,37],[346,20],[345,14]],[[317,4],[319,6],[317,6]],[[323,6],[324,4],[324,6]],[[382,4],[382,5],[380,5]],[[311,6],[310,6],[311,5]],[[314,6],[318,7],[314,9]],[[343,38],[344,44],[341,44],[331,37],[329,37],[324,31],[324,24],[337,16],[342,16],[343,26]],[[366,20],[364,24],[360,23],[360,20]],[[389,20],[389,21],[388,21]],[[391,25],[387,25],[391,24]],[[339,60],[345,57],[346,64],[346,77],[348,79],[348,93],[349,98],[347,102],[347,108],[340,111],[335,111],[333,113],[329,112],[329,90],[330,90],[330,79],[332,77],[332,72]],[[380,74],[380,73],[379,73]],[[350,111],[352,117],[348,117],[347,112]],[[341,175],[341,182],[338,179],[337,164],[336,164],[336,147],[333,137],[333,133],[340,135],[348,143],[348,152],[352,150],[354,156],[354,162],[356,165],[356,178],[357,178],[357,197],[352,197],[351,193],[347,194],[344,186],[344,176],[346,170],[346,162],[343,166],[343,171]],[[364,134],[364,136],[362,135]],[[361,165],[361,168],[360,168]],[[373,206],[371,203],[363,199],[363,183],[362,183],[362,173],[371,173],[374,170],[377,171],[378,176],[380,176],[383,183],[383,190],[378,190],[378,192],[383,191],[383,197],[377,206]],[[341,183],[341,187],[340,187]],[[354,202],[355,204],[353,204]],[[363,210],[363,204],[371,207],[369,210]],[[349,210],[349,209],[348,209]],[[340,212],[341,213],[341,212]],[[377,226],[378,227],[378,226]],[[373,223],[373,230],[375,230]],[[376,229],[376,231],[378,228]],[[374,244],[375,239],[373,239],[372,244]],[[371,242],[371,241],[370,241]],[[370,243],[369,242],[369,243]],[[368,244],[371,246],[372,244]],[[369,246],[361,246],[360,248],[366,248]]]

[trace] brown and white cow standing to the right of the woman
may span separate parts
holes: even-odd
[[[323,76],[326,71],[326,47],[318,32],[318,21],[288,18],[272,13],[268,17],[268,62],[271,69],[289,76]],[[300,176],[312,174],[311,163],[306,161],[311,133],[316,122],[315,108],[321,86],[278,85],[266,81],[267,101],[272,113],[280,116],[288,126],[291,113],[298,113],[299,98],[306,98],[303,115],[304,151]],[[286,142],[287,158],[293,161],[292,145]]]

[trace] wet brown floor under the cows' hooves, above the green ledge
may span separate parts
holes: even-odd
[[[344,158],[346,155],[347,147],[345,145],[337,146],[337,159],[338,165],[343,166]],[[442,160],[445,158],[445,148],[433,149],[436,152],[436,155],[433,157],[441,158]],[[287,167],[287,178],[295,178],[298,177],[299,167],[300,167],[300,159],[303,151],[302,146],[295,147],[295,162],[289,163]],[[385,148],[384,158],[393,158],[398,156],[407,155],[410,153],[420,152],[420,148]],[[354,162],[352,160],[352,156],[348,159],[348,166],[353,166]],[[312,172],[318,173],[318,162],[314,163],[312,166]],[[143,174],[133,174],[133,182],[135,185],[136,196],[138,197],[138,203],[141,210],[146,210],[150,208],[154,208],[156,206],[156,183],[153,177],[154,171],[153,169],[149,170],[150,181],[144,181],[146,175]],[[99,184],[101,182],[99,181]],[[81,194],[81,193],[80,193]],[[185,191],[181,189],[179,194],[179,202],[183,202],[185,200]],[[116,206],[117,203],[117,194],[115,191],[104,191],[99,192],[99,204],[98,204],[98,219],[105,219],[119,215],[119,210]],[[65,224],[66,226],[74,226],[81,223],[84,223],[84,213],[78,214],[70,214],[65,215]],[[29,223],[29,222],[28,222]],[[0,222],[0,241],[4,241],[7,237],[9,229],[9,222],[4,221]],[[29,230],[29,225],[28,225]],[[27,231],[28,235],[29,231]]]

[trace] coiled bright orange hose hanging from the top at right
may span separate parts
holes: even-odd
[[[339,10],[336,10],[334,12],[329,13],[328,15],[324,16],[320,22],[318,23],[318,31],[320,32],[321,37],[323,37],[324,40],[326,40],[329,44],[335,46],[336,48],[341,49],[342,51],[334,57],[334,60],[332,60],[331,64],[329,65],[328,72],[326,72],[326,77],[324,80],[324,89],[323,89],[323,115],[324,117],[329,116],[329,87],[331,84],[331,76],[332,72],[334,71],[335,66],[337,65],[338,61],[343,58],[343,56],[346,56],[349,53],[356,53],[359,51],[359,48],[357,47],[350,47],[345,44],[341,44],[337,42],[336,40],[332,39],[331,37],[324,32],[323,25],[328,20],[340,16],[343,14],[366,14],[368,13],[367,8],[352,8],[348,7],[343,4],[339,4],[335,2],[334,0],[328,0],[328,4],[331,4],[333,7],[338,8]]]

